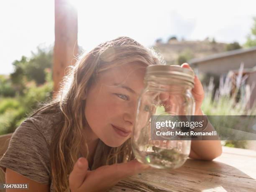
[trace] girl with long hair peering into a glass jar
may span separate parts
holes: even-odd
[[[31,192],[101,192],[148,169],[134,160],[130,143],[148,65],[162,62],[129,37],[82,55],[57,97],[15,130],[0,160],[6,183],[28,183]],[[192,91],[195,115],[203,115],[197,77]],[[189,157],[212,160],[221,152],[218,140],[192,141]]]

